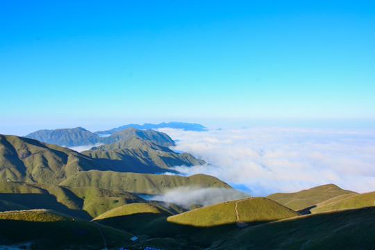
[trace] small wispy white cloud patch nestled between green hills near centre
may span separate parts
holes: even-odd
[[[224,201],[232,201],[247,197],[249,197],[248,194],[228,188],[180,187],[175,188],[163,195],[153,195],[147,197],[147,199],[172,202],[178,206],[189,208],[189,206],[192,204],[209,206]]]

